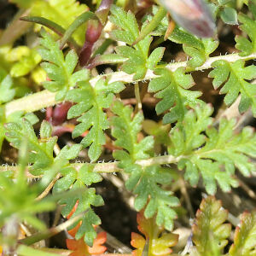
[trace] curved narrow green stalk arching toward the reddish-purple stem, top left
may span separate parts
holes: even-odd
[[[84,22],[86,22],[87,20],[97,20],[97,16],[90,12],[87,11],[82,15],[79,15],[79,17],[77,17],[73,23],[67,28],[67,31],[64,33],[63,38],[61,39],[61,43],[60,43],[60,48],[62,49],[64,47],[64,45],[67,43],[68,38],[70,38],[73,34],[73,32],[75,32],[75,30],[81,26],[82,24],[84,24]]]

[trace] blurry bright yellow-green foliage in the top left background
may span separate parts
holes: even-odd
[[[32,16],[44,17],[48,20],[55,21],[57,24],[66,28],[70,26],[76,17],[88,10],[85,4],[80,4],[76,0],[11,0],[18,4],[20,8],[30,9]],[[37,30],[40,26],[36,26]],[[82,45],[84,43],[85,25],[80,26],[73,33],[73,38]]]

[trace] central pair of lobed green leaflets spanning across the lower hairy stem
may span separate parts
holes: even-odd
[[[176,212],[170,207],[177,207],[179,202],[171,191],[160,188],[160,184],[172,182],[172,174],[160,166],[143,167],[136,163],[136,160],[149,157],[148,151],[154,144],[151,136],[137,142],[137,134],[142,128],[143,114],[137,113],[131,119],[132,109],[124,107],[118,101],[114,102],[112,110],[116,114],[112,119],[115,145],[125,149],[115,151],[113,157],[120,161],[119,167],[130,175],[125,185],[137,195],[135,208],[140,211],[145,207],[146,218],[151,218],[157,213],[156,224],[164,225],[167,230],[172,230]]]

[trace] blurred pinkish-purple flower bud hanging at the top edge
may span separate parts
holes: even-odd
[[[204,0],[160,0],[179,26],[200,38],[212,38],[216,29]]]

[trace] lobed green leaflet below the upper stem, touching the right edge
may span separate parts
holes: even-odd
[[[213,87],[217,89],[224,84],[220,93],[226,94],[224,102],[229,106],[236,101],[239,93],[241,101],[239,111],[245,112],[252,107],[253,114],[256,114],[256,85],[250,84],[247,80],[256,78],[256,67],[254,65],[244,67],[244,61],[230,63],[228,61],[215,61],[212,67],[215,67],[209,77],[213,78]]]

